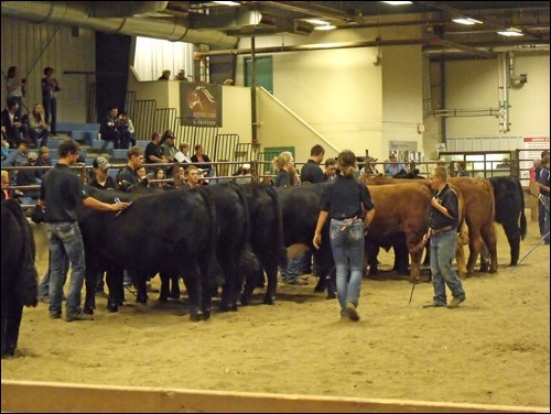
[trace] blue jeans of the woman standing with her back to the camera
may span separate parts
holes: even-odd
[[[346,315],[346,303],[358,306],[364,275],[364,222],[363,220],[331,220],[331,248],[337,273],[337,297],[341,315]]]

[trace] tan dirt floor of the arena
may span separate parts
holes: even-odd
[[[497,228],[499,271],[465,280],[456,309],[422,308],[431,283],[408,305],[407,281],[364,280],[361,320],[341,320],[337,302],[313,293],[313,276],[280,284],[273,306],[258,291],[252,306],[206,323],[190,322],[185,299],[108,314],[98,298],[94,322],[71,324],[41,303],[25,308],[2,379],[549,406],[549,246],[511,272]],[[520,257],[539,239],[529,222]],[[392,255],[379,258],[390,269]]]

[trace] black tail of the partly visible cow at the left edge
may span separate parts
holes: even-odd
[[[13,200],[4,201],[7,207],[12,214],[21,229],[22,235],[22,263],[20,277],[17,280],[17,295],[21,304],[25,306],[36,306],[39,303],[39,272],[34,265],[34,236],[31,226],[26,221],[26,217],[19,206]]]

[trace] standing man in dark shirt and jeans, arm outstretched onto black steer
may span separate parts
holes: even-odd
[[[77,206],[100,211],[117,211],[127,203],[106,204],[89,197],[83,189],[78,176],[71,171],[78,159],[79,146],[73,140],[65,140],[57,150],[58,163],[42,181],[39,205],[45,207],[46,233],[50,246],[50,317],[62,316],[63,274],[65,261],[71,262],[65,320],[91,320],[91,315],[83,314],[80,291],[84,284],[84,243],[77,222]]]

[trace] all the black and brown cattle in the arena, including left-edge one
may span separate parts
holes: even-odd
[[[378,248],[395,248],[395,268],[417,281],[429,227],[432,192],[425,181],[365,178],[376,206],[366,235],[370,272],[377,272]],[[504,226],[510,244],[510,264],[519,259],[525,237],[523,193],[516,177],[451,178],[460,195],[462,217],[457,263],[464,276],[475,271],[483,243],[489,250],[489,271],[497,270],[494,221]],[[147,303],[147,280],[160,274],[160,299],[166,301],[183,277],[192,320],[207,319],[212,297],[222,286],[220,310],[249,303],[256,287],[264,286],[263,303],[277,295],[278,266],[287,264],[287,248],[304,244],[312,250],[318,272],[315,292],[335,297],[334,262],[328,228],[322,247],[312,246],[324,184],[272,188],[258,183],[233,182],[194,189],[154,194],[100,190],[87,193],[106,203],[132,201],[119,213],[94,211],[82,206],[78,222],[86,258],[84,310],[93,313],[97,274],[107,272],[107,309],[116,312],[123,298],[123,272],[136,286],[137,302]],[[466,227],[465,227],[466,225]],[[468,233],[468,235],[467,235]],[[464,263],[463,243],[471,254]],[[172,282],[172,287],[170,287]],[[179,292],[179,291],[177,291]],[[179,293],[176,293],[177,295]],[[32,231],[21,208],[2,200],[2,357],[17,347],[22,307],[36,305],[36,270]]]

